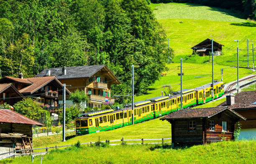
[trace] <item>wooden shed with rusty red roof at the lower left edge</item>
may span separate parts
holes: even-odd
[[[0,109],[0,152],[33,148],[32,125],[43,124],[10,109]]]

